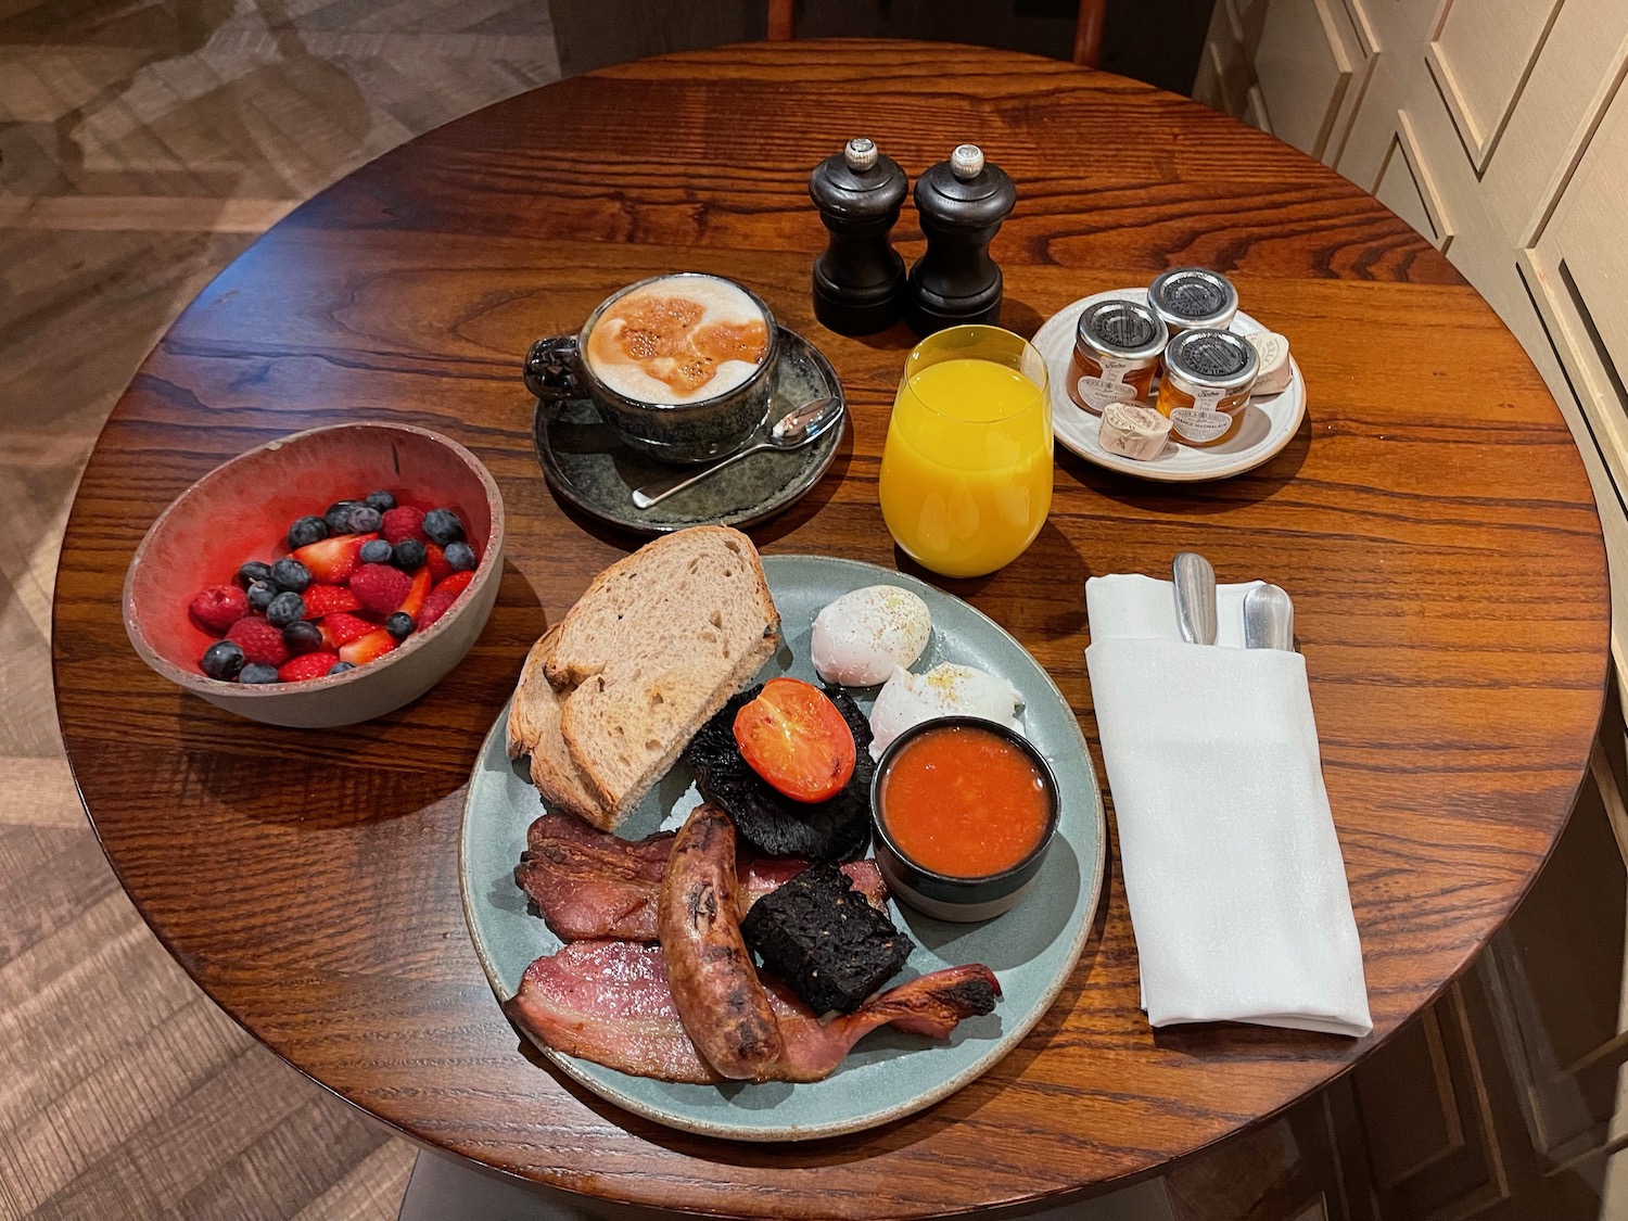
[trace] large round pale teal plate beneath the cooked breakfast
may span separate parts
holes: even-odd
[[[949,925],[894,904],[894,920],[917,951],[900,978],[939,967],[983,962],[1001,985],[995,1013],[964,1021],[943,1042],[891,1027],[866,1035],[824,1081],[811,1084],[689,1086],[628,1076],[544,1048],[560,1071],[648,1118],[685,1131],[746,1141],[794,1141],[860,1131],[910,1115],[988,1071],[1050,1008],[1086,944],[1102,886],[1104,822],[1097,778],[1079,723],[1047,672],[991,619],[957,597],[887,568],[817,555],[764,558],[768,588],[785,628],[785,646],[762,677],[793,674],[816,681],[809,663],[814,614],[838,594],[868,584],[918,593],[933,612],[933,641],[913,669],[959,661],[1001,674],[1024,697],[1022,728],[1052,764],[1063,796],[1058,835],[1039,884],[1017,907],[982,925]],[[869,708],[874,690],[855,692]],[[526,913],[513,869],[526,827],[542,812],[524,760],[505,754],[505,721],[487,736],[464,803],[461,879],[464,917],[500,1000],[514,995],[532,959],[560,947],[558,938]],[[650,835],[700,801],[679,764],[622,825]]]

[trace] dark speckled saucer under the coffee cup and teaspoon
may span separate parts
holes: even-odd
[[[768,417],[812,399],[842,397],[842,383],[817,347],[780,329],[780,365]],[[742,457],[716,475],[676,492],[648,510],[633,506],[633,488],[669,479],[684,467],[625,444],[589,399],[555,407],[537,404],[531,423],[537,462],[554,495],[610,526],[640,534],[666,534],[685,526],[754,526],[796,505],[837,456],[847,418],[801,449],[764,451]]]

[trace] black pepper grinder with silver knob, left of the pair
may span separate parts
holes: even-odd
[[[899,163],[864,137],[809,174],[809,197],[830,230],[830,244],[814,260],[814,317],[838,335],[886,330],[904,313],[905,260],[887,231],[907,187]]]

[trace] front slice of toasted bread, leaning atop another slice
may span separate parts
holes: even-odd
[[[606,568],[544,661],[570,762],[601,812],[589,821],[620,825],[778,646],[780,612],[739,531],[679,531]]]

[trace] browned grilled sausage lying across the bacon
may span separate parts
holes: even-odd
[[[697,806],[672,842],[656,907],[667,983],[707,1063],[734,1081],[767,1081],[785,1042],[741,938],[736,891],[734,824]]]

